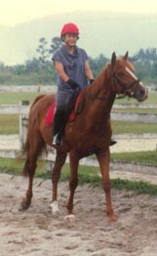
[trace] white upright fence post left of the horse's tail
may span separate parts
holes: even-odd
[[[28,106],[29,101],[21,101],[20,106]],[[24,143],[26,141],[28,126],[28,114],[20,112],[20,149],[23,149]]]

